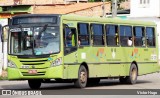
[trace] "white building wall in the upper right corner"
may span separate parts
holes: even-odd
[[[131,17],[160,17],[160,0],[131,0]]]

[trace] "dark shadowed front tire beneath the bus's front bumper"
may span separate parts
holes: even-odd
[[[28,80],[28,85],[31,89],[39,89],[41,87],[41,80],[30,79]]]

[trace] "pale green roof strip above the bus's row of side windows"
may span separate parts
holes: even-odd
[[[150,21],[141,21],[141,20],[130,20],[130,19],[121,19],[121,18],[106,18],[106,17],[87,17],[79,15],[62,15],[63,19],[66,20],[75,20],[75,21],[89,21],[89,22],[101,22],[101,23],[113,23],[113,24],[133,24],[133,25],[148,25],[156,26],[154,22]]]

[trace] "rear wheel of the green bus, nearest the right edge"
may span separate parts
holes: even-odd
[[[135,84],[137,82],[137,76],[138,76],[138,68],[134,63],[132,63],[130,67],[129,76],[126,77],[127,83]]]

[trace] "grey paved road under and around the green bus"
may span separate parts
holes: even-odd
[[[0,81],[0,89],[30,89],[27,81]],[[41,89],[75,89],[73,83],[47,83]],[[120,84],[119,80],[101,80],[99,85],[85,89],[160,89],[160,73],[139,76],[135,85]]]

